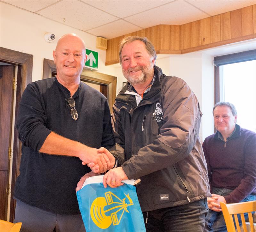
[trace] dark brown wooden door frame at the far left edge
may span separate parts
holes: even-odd
[[[32,81],[32,68],[33,68],[33,55],[14,51],[0,47],[0,60],[10,64],[18,65],[18,77],[17,77],[17,93],[16,93],[16,109],[15,109],[15,121],[17,122],[19,103],[21,95],[25,90],[28,83]],[[12,191],[11,191],[11,209],[10,209],[10,221],[14,219],[15,200],[13,199],[13,190],[16,181],[16,177],[19,175],[21,157],[21,142],[18,139],[18,131],[14,131],[14,144],[13,144],[13,167],[12,167]]]

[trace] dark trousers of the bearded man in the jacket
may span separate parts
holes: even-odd
[[[143,212],[147,232],[204,232],[207,198],[187,205]]]

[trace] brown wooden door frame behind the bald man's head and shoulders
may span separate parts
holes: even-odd
[[[56,65],[53,60],[44,59],[43,67],[43,79],[51,78],[52,72],[57,72]],[[81,80],[91,81],[93,83],[104,84],[108,86],[108,106],[112,113],[112,106],[114,105],[116,98],[116,77],[100,73],[97,71],[91,71],[84,69],[80,76]]]

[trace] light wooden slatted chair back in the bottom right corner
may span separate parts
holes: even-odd
[[[251,232],[255,232],[255,229],[253,226],[252,212],[256,211],[256,201],[247,201],[247,202],[240,202],[240,203],[233,203],[233,204],[225,204],[224,202],[220,202],[220,206],[222,209],[222,213],[226,222],[228,232],[236,231],[232,215],[234,215],[235,217],[237,231],[241,232],[237,214],[241,215],[243,230],[244,232],[247,232],[244,213],[248,213]]]

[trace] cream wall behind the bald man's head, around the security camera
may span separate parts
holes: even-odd
[[[106,51],[96,49],[96,36],[3,2],[0,2],[0,16],[0,47],[33,55],[32,81],[42,79],[44,58],[53,60],[52,51],[57,40],[67,33],[78,34],[88,49],[99,51],[99,72],[108,75],[115,73],[113,67],[105,66]],[[44,41],[46,32],[56,35],[54,42]]]

